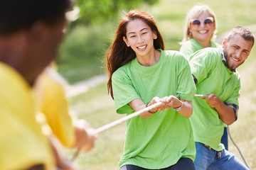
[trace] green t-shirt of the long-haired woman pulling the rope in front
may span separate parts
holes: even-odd
[[[176,51],[161,50],[159,62],[144,67],[137,59],[117,69],[112,75],[117,113],[133,113],[129,102],[144,103],[158,96],[179,95],[192,101],[196,86],[187,60]],[[127,120],[124,154],[119,166],[133,164],[146,169],[162,169],[181,157],[195,158],[196,150],[189,119],[171,109],[158,111],[149,118]]]

